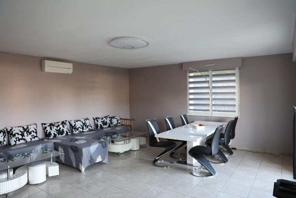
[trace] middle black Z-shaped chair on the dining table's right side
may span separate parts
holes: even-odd
[[[230,135],[231,135],[231,129],[232,129],[232,126],[234,124],[234,120],[231,120],[228,122],[227,126],[226,126],[226,129],[225,129],[225,133],[224,133],[224,139],[221,139],[221,134],[219,136],[219,145],[220,146],[225,146],[227,145],[228,147],[228,144],[230,142]],[[206,142],[205,142],[205,145],[207,146],[211,146],[212,144],[212,138],[208,139]],[[214,161],[210,161],[210,163],[213,163],[213,164],[224,164],[228,161],[228,159],[226,158],[226,156],[223,154],[222,150],[220,150],[219,148],[219,151],[217,152],[217,155],[219,157],[212,157],[212,158],[221,158],[223,160],[223,162],[214,162]]]

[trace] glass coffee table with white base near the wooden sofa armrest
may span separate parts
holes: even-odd
[[[118,153],[124,153],[125,151],[136,151],[140,149],[140,145],[145,145],[146,147],[146,138],[142,137],[143,135],[148,134],[148,132],[124,132],[124,133],[110,133],[105,134],[102,139],[109,142],[108,151]]]

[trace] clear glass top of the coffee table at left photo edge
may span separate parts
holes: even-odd
[[[20,153],[16,155],[9,155],[5,152],[0,153],[0,171],[7,170],[7,166],[9,166],[9,168],[15,168],[62,155],[64,155],[64,153],[47,148],[40,148],[39,150],[33,150],[27,153]]]

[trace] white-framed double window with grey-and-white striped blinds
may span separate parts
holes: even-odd
[[[188,115],[234,117],[239,114],[239,69],[187,72]],[[206,79],[207,80],[206,80]],[[212,88],[210,97],[209,84]],[[212,111],[212,112],[211,112]]]

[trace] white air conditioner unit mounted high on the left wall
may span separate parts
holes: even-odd
[[[42,72],[72,74],[73,64],[58,61],[42,60]]]

